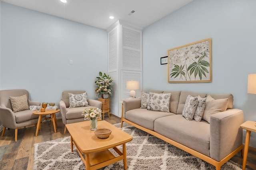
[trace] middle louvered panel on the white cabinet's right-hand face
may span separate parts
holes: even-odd
[[[140,51],[123,49],[122,69],[124,70],[142,70]]]

